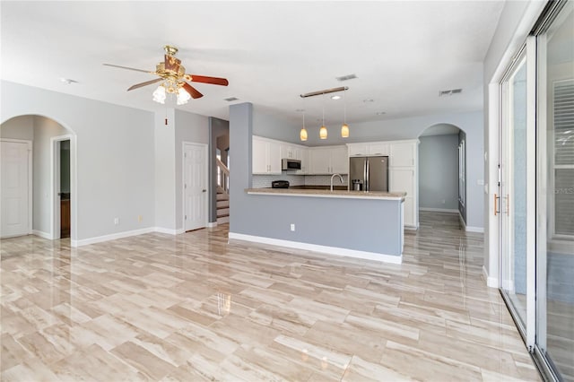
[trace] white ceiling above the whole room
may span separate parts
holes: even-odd
[[[162,47],[179,48],[187,73],[228,87],[177,107],[228,118],[230,102],[253,102],[308,123],[343,118],[343,100],[299,94],[348,86],[347,122],[482,109],[483,58],[503,1],[396,2],[1,2],[2,79],[137,109],[154,86],[126,92],[151,74]],[[338,82],[335,77],[356,74]],[[78,83],[65,84],[60,78]],[[439,98],[440,90],[462,88]],[[364,102],[363,100],[372,100]],[[169,104],[170,103],[170,104]],[[377,112],[385,112],[377,115]],[[297,122],[299,123],[299,122]]]

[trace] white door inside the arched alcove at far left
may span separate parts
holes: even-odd
[[[31,233],[29,151],[29,142],[2,142],[2,238]]]

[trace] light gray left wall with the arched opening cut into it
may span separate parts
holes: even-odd
[[[1,85],[0,122],[38,115],[76,136],[78,220],[72,239],[153,226],[152,113],[13,82]]]

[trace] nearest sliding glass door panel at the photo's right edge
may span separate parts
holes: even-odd
[[[554,378],[574,381],[574,2],[537,36],[535,353]]]

